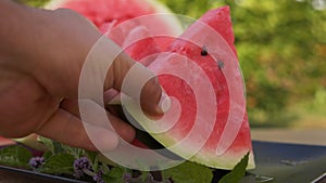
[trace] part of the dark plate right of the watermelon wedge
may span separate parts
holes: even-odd
[[[310,183],[326,173],[326,146],[253,142],[256,168],[268,183]],[[318,181],[318,183],[325,183]]]

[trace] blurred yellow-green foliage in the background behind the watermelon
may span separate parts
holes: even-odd
[[[195,18],[230,6],[252,126],[287,126],[296,119],[289,109],[300,103],[326,112],[326,1],[160,1]]]

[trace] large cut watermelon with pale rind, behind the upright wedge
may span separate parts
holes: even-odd
[[[156,0],[52,0],[47,8],[66,8],[80,13],[121,47],[125,37],[139,26],[143,26],[151,35],[178,36],[183,30],[176,17],[155,16],[158,13],[171,14],[171,11]],[[122,29],[115,29],[116,27]],[[159,39],[155,44],[163,49],[168,43],[170,39]]]

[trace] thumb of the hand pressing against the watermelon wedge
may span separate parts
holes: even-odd
[[[163,115],[170,108],[168,97],[156,76],[124,53],[112,40],[102,37],[90,51],[84,68],[89,63],[91,73],[88,76],[95,78],[100,74],[104,78],[104,90],[113,88],[135,100],[140,96],[140,105],[146,114]]]

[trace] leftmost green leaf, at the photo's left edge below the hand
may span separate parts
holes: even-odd
[[[23,146],[14,145],[0,149],[0,165],[9,167],[29,168],[32,153]]]

